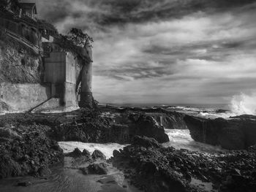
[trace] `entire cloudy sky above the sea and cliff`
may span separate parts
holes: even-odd
[[[256,1],[40,0],[61,33],[94,37],[94,97],[228,103],[256,90]]]

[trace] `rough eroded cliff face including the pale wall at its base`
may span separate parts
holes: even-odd
[[[0,33],[0,113],[21,112],[48,99],[41,57]]]

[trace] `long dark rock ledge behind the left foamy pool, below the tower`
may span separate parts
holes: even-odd
[[[50,135],[58,141],[129,143],[135,135],[154,137],[158,142],[169,141],[164,127],[154,118],[134,112],[104,116],[81,110],[72,122],[53,126]]]

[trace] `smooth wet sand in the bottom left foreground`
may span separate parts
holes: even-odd
[[[88,164],[72,164],[73,158],[65,157],[64,166],[55,167],[49,177],[15,177],[0,180],[1,192],[137,192],[130,186],[124,174],[108,164],[108,174],[84,175],[79,168]],[[18,186],[18,183],[28,183],[29,186]]]

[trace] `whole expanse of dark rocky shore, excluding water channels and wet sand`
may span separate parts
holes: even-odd
[[[210,154],[162,147],[161,143],[169,141],[166,128],[189,128],[195,141],[246,150]],[[124,174],[125,183],[141,191],[255,191],[256,147],[250,147],[255,144],[254,128],[252,116],[209,120],[162,109],[129,107],[1,115],[0,179],[48,177],[52,175],[50,170],[57,165],[63,167],[68,159],[72,166],[64,167],[70,170],[74,183],[83,180],[78,174],[109,175],[115,166]],[[131,145],[115,150],[113,158],[106,160],[97,150],[93,154],[75,150],[64,157],[57,142],[65,141]]]

